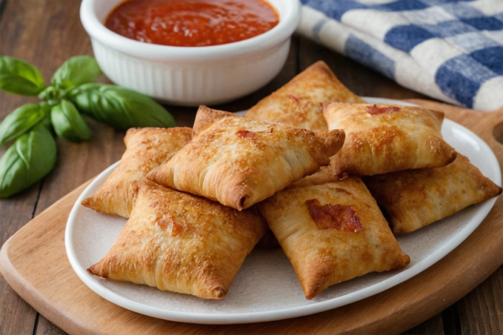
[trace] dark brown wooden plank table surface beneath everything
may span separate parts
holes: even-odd
[[[0,55],[34,64],[46,83],[67,58],[93,55],[90,39],[79,21],[79,5],[79,0],[0,0]],[[249,108],[317,60],[324,60],[358,95],[425,98],[344,56],[294,36],[288,60],[271,83],[244,98],[216,107],[228,111]],[[108,79],[103,77],[101,81],[108,82]],[[0,119],[31,101],[36,99],[0,92]],[[196,108],[169,105],[166,108],[179,126],[192,126]],[[0,200],[0,244],[56,200],[120,159],[124,132],[92,121],[90,127],[93,131],[90,142],[73,144],[57,140],[56,167],[44,180],[8,200]],[[0,148],[0,154],[4,152],[5,148]],[[0,334],[62,333],[64,331],[34,310],[0,277]],[[501,267],[463,299],[407,333],[503,333]]]

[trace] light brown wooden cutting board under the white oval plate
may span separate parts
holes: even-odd
[[[471,129],[503,165],[503,109],[479,113],[425,100]],[[73,272],[65,253],[66,220],[88,183],[47,208],[14,234],[0,251],[0,271],[12,288],[47,319],[70,334],[399,333],[462,298],[503,263],[503,197],[479,228],[444,259],[380,294],[330,311],[294,319],[234,325],[165,321],[137,314],[91,291]]]

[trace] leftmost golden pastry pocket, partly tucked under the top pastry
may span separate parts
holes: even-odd
[[[130,184],[144,181],[153,168],[185,146],[192,137],[192,129],[131,128],[126,132],[126,151],[117,168],[101,188],[82,205],[105,214],[129,217],[133,205]]]

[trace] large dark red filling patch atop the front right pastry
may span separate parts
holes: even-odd
[[[337,229],[351,233],[362,229],[360,218],[351,205],[327,203],[322,206],[318,199],[307,200],[306,205],[318,229]]]

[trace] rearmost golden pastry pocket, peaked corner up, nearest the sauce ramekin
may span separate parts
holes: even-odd
[[[318,61],[248,109],[244,117],[326,131],[321,104],[329,101],[365,103],[337,79],[325,62]]]

